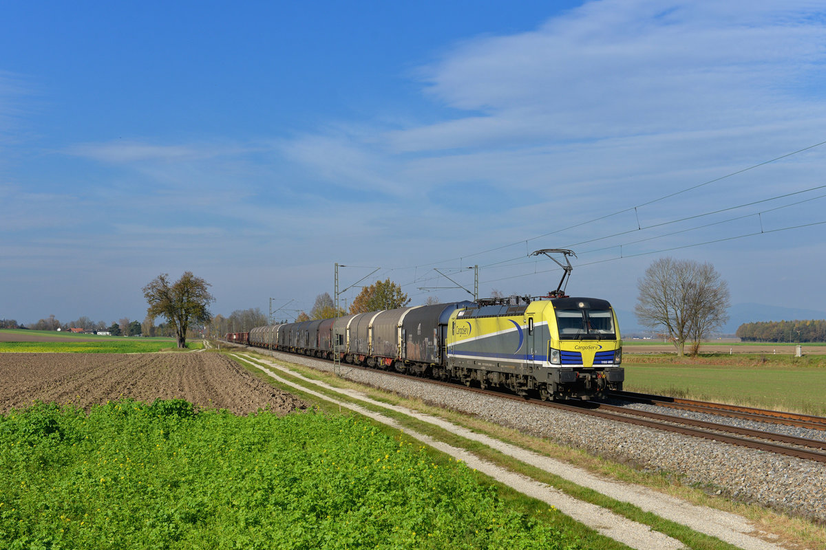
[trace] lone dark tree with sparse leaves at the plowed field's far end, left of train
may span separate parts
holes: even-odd
[[[207,281],[185,271],[181,278],[169,283],[169,274],[162,273],[144,287],[144,296],[150,307],[147,315],[163,316],[178,338],[178,347],[187,346],[190,323],[208,323],[211,314],[207,307],[215,298],[209,294]]]

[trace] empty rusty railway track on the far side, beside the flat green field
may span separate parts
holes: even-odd
[[[717,416],[729,416],[748,421],[767,422],[779,425],[793,425],[809,430],[826,431],[826,418],[820,416],[801,415],[795,412],[768,411],[753,407],[741,407],[738,405],[726,405],[724,403],[712,403],[705,401],[695,401],[692,399],[682,399],[681,397],[666,397],[662,395],[650,395],[648,393],[634,392],[610,392],[610,397],[624,401],[645,403],[657,407],[667,407],[682,411],[705,412]]]

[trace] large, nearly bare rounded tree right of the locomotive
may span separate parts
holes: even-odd
[[[648,266],[637,286],[638,321],[645,327],[662,327],[679,357],[686,341],[691,341],[691,354],[696,355],[700,340],[729,320],[729,284],[710,263],[660,258]]]

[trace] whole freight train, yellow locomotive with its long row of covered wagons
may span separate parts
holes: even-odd
[[[226,340],[544,400],[601,397],[624,381],[610,303],[559,291],[256,327]]]

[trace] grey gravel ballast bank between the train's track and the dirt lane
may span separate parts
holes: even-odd
[[[255,349],[280,360],[332,371],[333,365],[301,355]],[[342,364],[340,374],[404,397],[449,407],[472,416],[584,449],[645,472],[664,472],[687,485],[704,487],[738,501],[826,522],[826,464],[746,449],[732,444],[607,421],[530,402],[480,396],[415,378]]]

